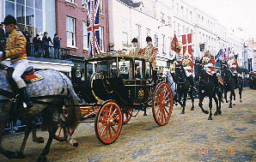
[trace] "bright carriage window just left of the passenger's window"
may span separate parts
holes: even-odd
[[[122,79],[132,79],[132,60],[128,58],[119,58],[119,75]]]

